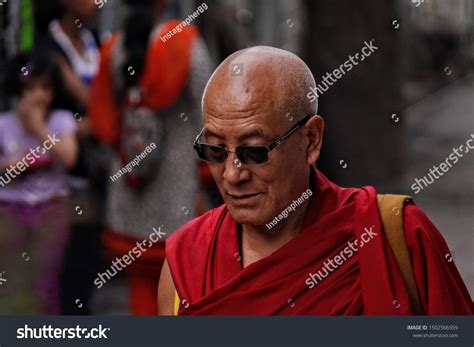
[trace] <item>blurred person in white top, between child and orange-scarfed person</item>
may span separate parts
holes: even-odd
[[[41,50],[48,52],[60,69],[58,107],[70,110],[78,125],[79,158],[70,170],[72,235],[68,245],[61,285],[61,313],[90,314],[93,279],[100,261],[100,231],[105,205],[107,148],[90,134],[87,106],[90,84],[99,69],[100,41],[92,29],[99,14],[94,0],[37,2],[37,11],[53,18],[43,37]],[[46,21],[45,18],[45,21]],[[78,215],[78,213],[80,215]],[[87,257],[84,257],[87,254]],[[82,305],[78,307],[76,299]]]

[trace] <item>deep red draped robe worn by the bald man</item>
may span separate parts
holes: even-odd
[[[376,191],[341,188],[317,172],[301,232],[242,268],[238,228],[225,205],[167,241],[180,315],[410,315],[408,291],[381,230]],[[424,312],[472,314],[473,305],[446,242],[426,215],[404,210],[405,233]],[[332,271],[324,262],[370,229],[369,242]],[[366,236],[365,236],[366,237]],[[367,237],[366,237],[367,238]],[[317,271],[326,276],[311,287]]]

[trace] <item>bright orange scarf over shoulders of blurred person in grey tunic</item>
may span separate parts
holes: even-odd
[[[160,40],[161,34],[179,23],[172,20],[164,24],[148,47],[145,68],[140,77],[140,86],[145,91],[141,104],[155,110],[166,109],[177,101],[188,81],[191,48],[198,37],[197,29],[186,26],[166,43]],[[113,35],[101,47],[99,73],[91,85],[88,108],[92,133],[102,142],[110,144],[116,144],[120,136],[120,108],[115,101],[111,76],[111,55],[120,35]]]

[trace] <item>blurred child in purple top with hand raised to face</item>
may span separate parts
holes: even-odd
[[[47,56],[15,65],[10,85],[18,85],[19,101],[0,116],[0,263],[15,271],[0,292],[0,312],[59,314],[76,123],[70,112],[52,109],[59,71]],[[12,167],[19,175],[12,176]]]

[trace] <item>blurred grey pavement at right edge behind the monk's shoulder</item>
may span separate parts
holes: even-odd
[[[474,134],[474,74],[452,82],[406,110],[410,168],[406,186],[433,165],[465,146]],[[440,179],[414,195],[447,240],[454,259],[474,296],[474,150],[464,153]],[[408,188],[409,189],[409,188]],[[413,192],[411,192],[413,195]]]

